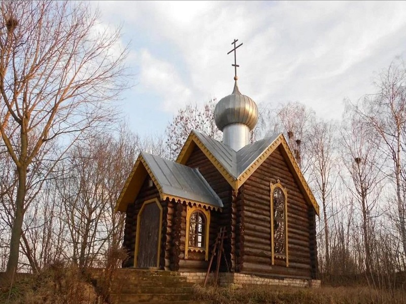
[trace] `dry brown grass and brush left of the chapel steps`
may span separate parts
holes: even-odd
[[[63,262],[54,262],[38,275],[18,274],[13,282],[0,274],[0,303],[108,303],[112,278],[125,258],[127,255],[123,249],[110,249],[97,280],[94,280],[94,269],[80,269]]]

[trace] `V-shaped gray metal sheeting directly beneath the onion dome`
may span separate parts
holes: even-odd
[[[194,131],[199,140],[209,149],[210,153],[220,162],[220,164],[235,179],[244,173],[251,164],[272,144],[280,134],[258,140],[248,144],[238,151],[234,151],[229,146],[219,142],[205,134]]]

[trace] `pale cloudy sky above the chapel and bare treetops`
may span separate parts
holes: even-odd
[[[340,119],[348,98],[374,93],[379,72],[406,60],[406,2],[91,2],[122,27],[132,87],[120,101],[140,135],[161,134],[188,103],[239,88],[259,106],[300,101]]]

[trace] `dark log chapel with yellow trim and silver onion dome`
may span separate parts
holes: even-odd
[[[282,133],[250,143],[258,108],[234,80],[214,113],[222,142],[191,131],[176,161],[139,155],[116,206],[123,267],[204,273],[224,227],[221,272],[318,279],[319,206]]]

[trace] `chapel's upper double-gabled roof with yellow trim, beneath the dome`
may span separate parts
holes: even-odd
[[[281,146],[282,155],[297,181],[304,198],[314,207],[317,215],[319,215],[319,205],[282,133],[258,140],[246,145],[239,151],[234,151],[224,143],[193,130],[190,132],[176,161],[180,164],[186,164],[195,145],[200,148],[234,190],[244,184],[265,159]]]

